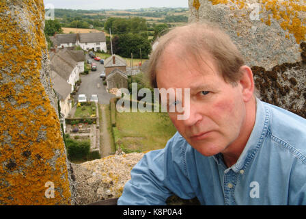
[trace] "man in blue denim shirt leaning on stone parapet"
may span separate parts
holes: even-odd
[[[202,205],[306,204],[306,120],[255,97],[251,68],[223,31],[169,31],[150,76],[157,88],[190,88],[190,116],[169,112],[178,132],[133,168],[118,205],[165,205],[171,194]]]

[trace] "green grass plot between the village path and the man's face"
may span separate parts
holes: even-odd
[[[115,141],[124,151],[163,149],[176,128],[165,113],[119,113],[114,128]]]

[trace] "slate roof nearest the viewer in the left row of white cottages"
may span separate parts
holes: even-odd
[[[51,72],[51,81],[59,100],[64,101],[71,92],[71,85],[54,70]]]

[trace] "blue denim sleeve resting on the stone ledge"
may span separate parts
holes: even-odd
[[[150,151],[130,172],[117,205],[165,205],[171,194],[190,199],[195,193],[186,172],[184,145],[176,134],[165,149]]]

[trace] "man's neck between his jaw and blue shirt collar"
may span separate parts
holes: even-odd
[[[253,127],[255,125],[256,117],[256,99],[253,99],[246,105],[246,116],[245,116],[245,125],[243,125],[238,138],[232,142],[230,146],[227,147],[225,153],[223,154],[224,163],[227,167],[231,167],[236,164],[238,158],[240,157],[245,145],[251,136]]]

